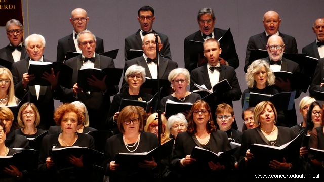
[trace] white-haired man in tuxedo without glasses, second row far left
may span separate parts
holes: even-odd
[[[24,58],[12,64],[11,72],[15,85],[15,96],[22,99],[28,93],[28,101],[36,105],[41,115],[41,124],[39,128],[48,130],[50,126],[55,125],[53,120],[54,101],[53,92],[57,89],[58,74],[44,72],[44,77],[51,83],[51,86],[29,86],[29,81],[35,77],[28,75],[29,61],[45,61],[52,62],[43,57],[45,49],[45,38],[42,35],[32,34],[25,39],[26,52],[29,57]]]

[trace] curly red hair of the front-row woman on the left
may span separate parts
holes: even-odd
[[[61,126],[62,117],[69,112],[74,112],[77,115],[77,125],[82,124],[84,119],[83,113],[73,104],[66,103],[57,107],[54,112],[54,121],[57,126]]]

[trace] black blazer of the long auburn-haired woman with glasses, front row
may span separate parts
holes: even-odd
[[[213,178],[215,177],[215,175],[220,175],[218,177],[224,176],[224,171],[212,171],[208,167],[208,164],[190,164],[180,169],[180,160],[182,158],[185,158],[186,155],[190,155],[192,149],[197,146],[192,138],[193,135],[194,134],[191,134],[188,131],[178,134],[171,158],[171,165],[174,170],[177,170],[181,173],[181,177],[184,178],[184,181],[197,181],[197,179],[201,179],[202,177],[205,177],[206,179]],[[209,150],[216,154],[218,152],[225,152],[231,149],[227,134],[224,131],[220,130],[211,132],[209,145]]]

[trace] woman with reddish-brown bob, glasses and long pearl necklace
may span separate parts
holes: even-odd
[[[115,164],[118,153],[149,152],[158,146],[155,134],[143,132],[143,116],[135,106],[126,106],[119,113],[118,128],[120,134],[111,136],[106,143],[107,161],[105,175],[109,181],[152,181],[153,168],[157,166],[155,159],[145,160],[139,164],[124,167]],[[157,160],[157,159],[156,159]]]

